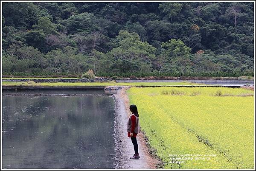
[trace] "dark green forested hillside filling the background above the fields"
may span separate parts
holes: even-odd
[[[3,2],[3,75],[253,76],[253,2]]]

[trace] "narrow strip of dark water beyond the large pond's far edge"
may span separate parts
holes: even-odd
[[[75,89],[35,89],[35,90],[2,90],[3,94],[116,94],[116,90],[103,90],[103,89],[84,89],[84,90],[75,90]]]

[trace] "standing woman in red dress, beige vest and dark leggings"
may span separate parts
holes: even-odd
[[[139,159],[139,151],[138,151],[138,143],[136,136],[138,133],[140,133],[140,121],[139,121],[139,114],[138,114],[138,109],[136,105],[132,104],[130,106],[130,111],[132,114],[130,115],[128,122],[127,122],[127,132],[128,132],[128,137],[131,137],[131,142],[134,145],[134,152],[135,154],[133,157],[130,157],[130,159]]]

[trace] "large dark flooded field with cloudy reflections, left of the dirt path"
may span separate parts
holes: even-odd
[[[3,168],[115,168],[110,96],[2,96]]]

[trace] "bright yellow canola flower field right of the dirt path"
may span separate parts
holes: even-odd
[[[137,105],[141,129],[166,163],[165,168],[253,168],[253,91],[131,87],[127,93],[130,104]],[[204,159],[175,159],[172,154],[201,154]]]

